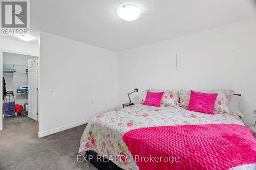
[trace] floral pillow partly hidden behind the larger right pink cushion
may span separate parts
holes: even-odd
[[[229,113],[228,109],[228,99],[233,95],[233,90],[211,90],[211,91],[202,91],[205,93],[218,93],[216,102],[214,104],[214,110]],[[190,99],[190,91],[180,91],[180,107],[186,108]]]

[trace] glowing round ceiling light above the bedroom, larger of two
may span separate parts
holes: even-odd
[[[117,10],[118,16],[127,21],[132,21],[141,16],[139,7],[135,5],[124,5]]]

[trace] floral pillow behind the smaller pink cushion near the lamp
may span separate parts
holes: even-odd
[[[172,90],[156,90],[156,89],[149,89],[147,91],[152,92],[161,92],[163,91],[163,97],[161,100],[161,104],[169,105],[169,106],[177,106],[179,102],[179,91],[172,91]]]

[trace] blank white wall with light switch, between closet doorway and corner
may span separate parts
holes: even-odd
[[[40,32],[39,71],[39,136],[85,123],[116,106],[115,52]]]

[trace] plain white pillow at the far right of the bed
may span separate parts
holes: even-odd
[[[243,98],[239,95],[232,95],[228,101],[228,108],[234,114],[239,115],[240,117],[244,117],[243,110]]]

